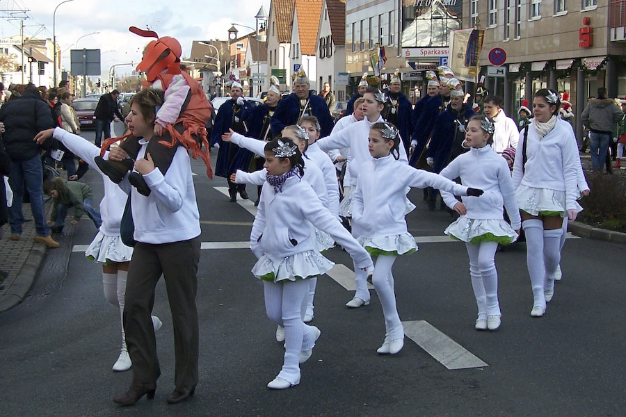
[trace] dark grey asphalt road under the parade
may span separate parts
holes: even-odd
[[[205,246],[246,242],[252,215],[214,188],[224,187],[224,179],[204,177],[199,161],[193,171],[201,238],[212,243]],[[92,170],[84,181],[98,201],[99,175]],[[254,198],[255,190],[249,192]],[[301,366],[301,382],[269,391],[266,384],[280,370],[283,349],[265,315],[262,283],[250,273],[255,258],[245,248],[204,249],[195,396],[183,404],[166,403],[174,357],[161,280],[154,308],[163,320],[157,333],[162,372],[157,395],[127,409],[111,401],[126,391],[131,373],[111,371],[120,347],[119,315],[104,300],[102,268],[76,246],[88,245],[96,232],[83,219],[72,234],[59,238],[60,249],[48,252],[29,297],[0,315],[0,415],[623,416],[626,246],[569,239],[563,280],[543,318],[529,315],[524,243],[498,252],[502,325],[497,332],[476,332],[465,247],[438,241],[451,218],[428,212],[421,197],[421,190],[410,193],[417,209],[408,224],[426,243],[394,265],[399,313],[406,327],[422,329],[412,331],[419,345],[406,338],[399,354],[376,354],[385,335],[376,292],[371,291],[369,306],[349,310],[344,304],[352,293],[325,276],[317,287],[313,322],[321,338]],[[327,256],[351,268],[342,250]],[[484,364],[463,368],[476,360]],[[449,369],[450,363],[461,367]]]

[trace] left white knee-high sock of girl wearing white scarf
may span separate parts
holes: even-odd
[[[526,264],[533,286],[533,306],[545,309],[543,281],[545,279],[545,263],[543,260],[543,222],[529,219],[522,222],[526,234]]]

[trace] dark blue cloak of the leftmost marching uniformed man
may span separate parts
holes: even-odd
[[[222,142],[222,134],[226,133],[230,128],[233,128],[234,131],[241,133],[243,136],[248,136],[250,129],[249,123],[252,118],[252,104],[246,101],[246,103],[234,113],[235,105],[235,100],[228,100],[220,106],[218,114],[215,117],[213,129],[211,130],[211,146],[216,143],[220,144],[218,158],[215,163],[215,174],[218,177],[228,178],[230,174],[233,174],[236,170],[248,172],[250,161],[252,161],[252,152],[241,149],[230,142]],[[243,122],[243,128],[238,127],[235,129],[234,117],[239,117],[239,120]]]

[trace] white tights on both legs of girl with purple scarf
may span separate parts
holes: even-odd
[[[308,281],[264,281],[267,317],[284,327],[284,361],[278,377],[291,384],[300,382],[300,350],[309,350],[315,345],[315,333],[302,320],[303,305],[309,293]]]

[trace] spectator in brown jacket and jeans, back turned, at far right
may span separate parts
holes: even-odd
[[[613,138],[613,129],[622,117],[624,112],[613,99],[607,97],[607,88],[604,87],[597,89],[597,98],[589,101],[581,115],[582,123],[589,129],[591,165],[596,174],[602,172],[602,165],[607,160],[609,144]]]

